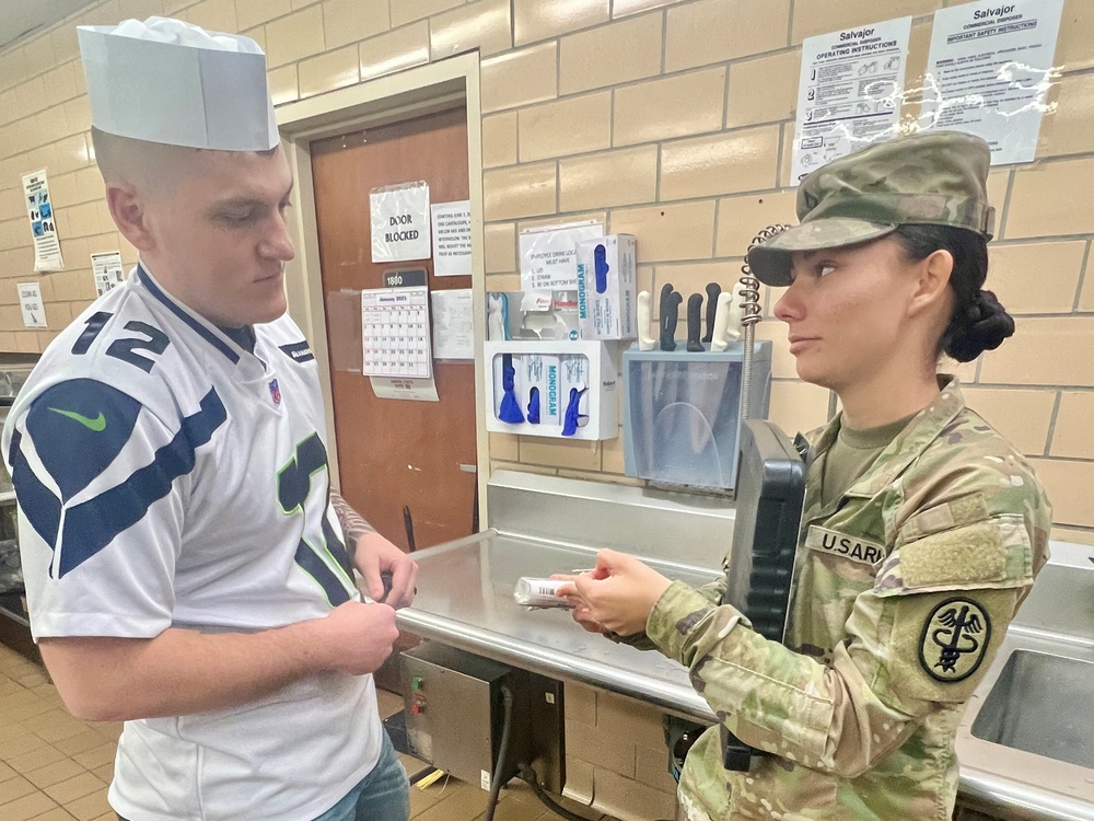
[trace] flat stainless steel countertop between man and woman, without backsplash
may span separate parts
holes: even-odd
[[[608,641],[579,627],[570,613],[528,611],[513,601],[521,576],[546,577],[592,567],[589,547],[512,537],[490,530],[416,554],[421,568],[414,606],[398,625],[423,638],[563,681],[580,681],[657,705],[698,721],[713,713],[687,671],[656,651]],[[660,573],[689,585],[717,571],[650,559]]]

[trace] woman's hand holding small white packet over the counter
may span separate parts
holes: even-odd
[[[571,578],[558,594],[574,603],[573,617],[591,633],[632,636],[645,631],[645,620],[672,583],[633,556],[615,551],[596,554],[596,568]]]

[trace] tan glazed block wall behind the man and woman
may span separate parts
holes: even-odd
[[[92,162],[78,24],[170,14],[246,33],[267,50],[278,104],[477,48],[487,287],[519,287],[523,228],[596,217],[638,235],[641,287],[671,280],[688,293],[711,279],[729,287],[756,230],[794,219],[789,169],[802,38],[912,15],[907,84],[915,88],[933,12],[958,2],[103,0],[0,53],[0,351],[40,351],[94,298],[90,253],[120,248],[126,263],[136,261],[114,230]],[[1037,161],[997,169],[990,180],[999,230],[989,282],[1017,316],[1017,335],[957,372],[973,404],[1033,459],[1056,505],[1054,536],[1094,544],[1089,0],[1067,0],[1056,65],[1049,102],[1058,107],[1045,117]],[[40,167],[68,265],[51,275],[33,273],[20,189],[21,175]],[[27,280],[42,284],[48,331],[22,325],[15,282]],[[775,346],[772,418],[791,431],[822,423],[827,394],[795,378],[781,324],[768,313],[758,329]],[[496,466],[629,481],[618,439],[491,435],[490,455]],[[573,788],[580,793],[584,778],[587,796],[622,818],[667,817],[640,787],[671,794],[655,762],[655,717],[648,727],[633,716],[617,721],[643,708],[568,691]]]

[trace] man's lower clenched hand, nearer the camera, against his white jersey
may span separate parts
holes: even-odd
[[[386,604],[348,601],[316,623],[327,658],[325,667],[346,675],[364,675],[380,669],[399,637],[395,611]]]

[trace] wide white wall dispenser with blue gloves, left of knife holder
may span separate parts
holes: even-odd
[[[606,344],[581,339],[491,340],[482,344],[482,350],[487,430],[584,441],[619,436],[617,359]],[[540,367],[529,372],[529,362]],[[513,369],[508,379],[505,368]],[[584,389],[580,395],[571,394],[574,385]],[[533,388],[538,395],[538,423],[528,420]],[[520,421],[503,420],[509,416],[502,409],[504,402],[510,410],[514,405],[519,408]],[[565,416],[571,408],[580,419],[568,430]]]

